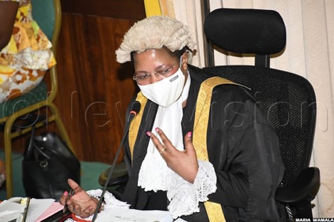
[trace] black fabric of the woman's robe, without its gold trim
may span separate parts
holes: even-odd
[[[183,108],[183,137],[193,131],[201,83],[211,77],[200,68],[192,65],[188,65],[188,68],[191,88],[186,107]],[[148,100],[141,109],[144,109],[143,117],[132,160],[128,139],[124,144],[130,177],[123,194],[118,197],[131,204],[131,208],[167,210],[165,191],[145,192],[137,186],[141,162],[146,156],[150,139],[146,132],[151,131],[158,105]],[[278,137],[249,90],[240,85],[216,86],[208,121],[208,158],[217,176],[217,190],[208,196],[209,201],[221,204],[226,221],[284,221],[283,206],[275,201],[275,190],[284,172]],[[203,203],[200,203],[200,213],[182,218],[186,221],[208,221]]]

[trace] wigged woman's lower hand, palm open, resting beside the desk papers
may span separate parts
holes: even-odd
[[[74,190],[73,196],[69,196],[68,192],[65,191],[59,202],[64,206],[67,203],[69,211],[81,218],[93,215],[98,199],[89,196],[73,179],[69,179],[69,186]]]

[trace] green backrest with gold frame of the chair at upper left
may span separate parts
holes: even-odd
[[[61,2],[60,0],[31,0],[32,16],[42,31],[52,43],[52,51],[56,56],[56,48],[61,29]],[[56,65],[50,68],[51,90],[48,96],[53,101],[58,90]]]

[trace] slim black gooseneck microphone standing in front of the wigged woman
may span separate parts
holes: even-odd
[[[124,129],[124,134],[123,134],[123,138],[121,140],[121,144],[119,144],[119,147],[118,147],[117,152],[116,152],[116,156],[113,159],[113,164],[111,164],[111,169],[109,171],[108,178],[106,179],[106,184],[104,184],[104,186],[103,186],[102,194],[100,196],[100,200],[98,201],[98,205],[97,205],[96,210],[94,212],[94,216],[93,216],[92,222],[94,222],[96,220],[96,217],[97,217],[97,214],[98,214],[98,210],[101,208],[101,204],[102,204],[102,201],[103,201],[104,193],[106,193],[106,188],[107,188],[107,186],[109,184],[109,181],[111,179],[111,174],[113,174],[113,169],[115,169],[116,161],[118,159],[119,154],[121,153],[121,148],[123,147],[123,144],[125,142],[126,136],[128,135],[128,130],[130,129],[130,125],[131,125],[131,120],[133,119],[133,117],[135,117],[138,114],[138,112],[140,110],[141,110],[141,103],[138,102],[138,101],[133,102],[133,104],[131,106],[131,111],[130,111],[130,113],[128,115],[128,120],[126,122],[126,128]]]

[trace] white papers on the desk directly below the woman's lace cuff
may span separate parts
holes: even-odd
[[[96,222],[172,222],[168,211],[138,211],[134,209],[114,208],[96,218]],[[183,220],[181,220],[183,221]],[[180,221],[180,222],[181,222]]]

